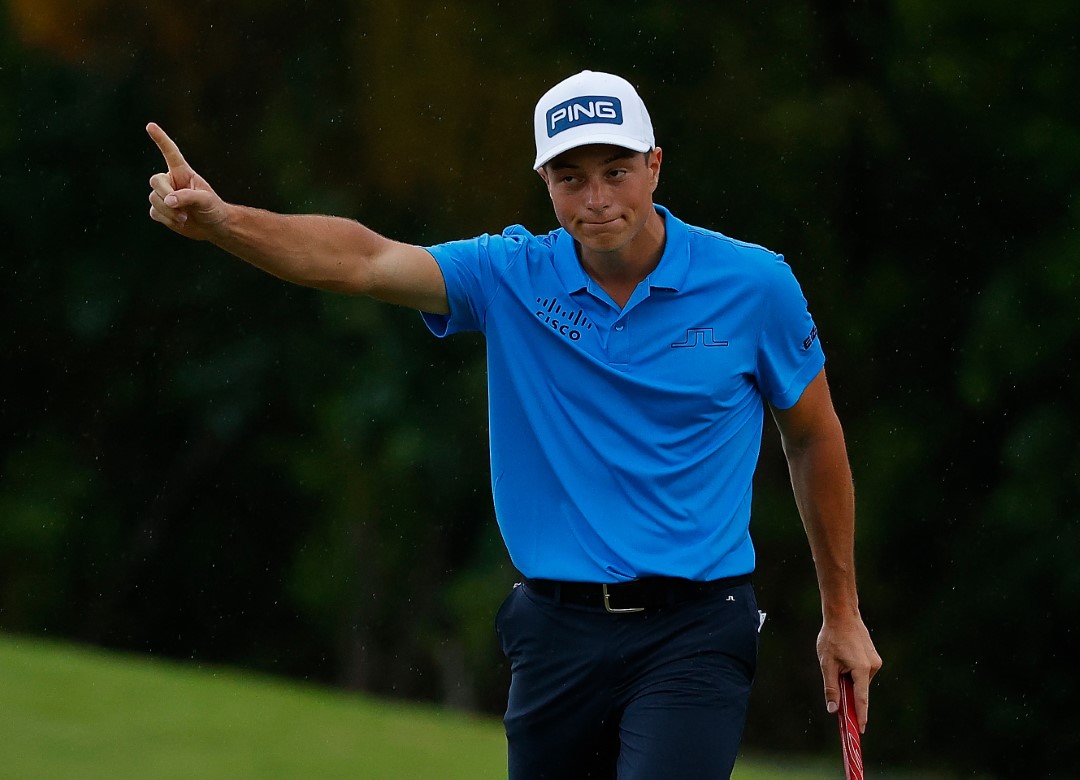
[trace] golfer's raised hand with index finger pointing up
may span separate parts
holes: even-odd
[[[180,236],[213,239],[228,217],[228,204],[192,170],[165,131],[150,122],[146,132],[168,166],[167,173],[150,177],[150,218]]]

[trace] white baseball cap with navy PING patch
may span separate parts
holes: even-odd
[[[532,115],[534,169],[567,149],[611,144],[634,151],[656,146],[652,120],[637,91],[611,73],[582,70],[544,93]]]

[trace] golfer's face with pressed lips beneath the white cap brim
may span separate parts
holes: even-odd
[[[594,144],[563,152],[540,169],[555,216],[583,252],[632,251],[656,215],[659,147],[650,152]]]

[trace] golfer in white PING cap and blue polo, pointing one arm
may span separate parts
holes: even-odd
[[[757,662],[751,482],[766,406],[816,567],[827,709],[865,728],[881,665],[859,610],[854,499],[818,327],[791,268],[653,202],[663,153],[625,80],[536,106],[561,229],[420,247],[225,202],[157,125],[150,216],[298,284],[486,337],[491,489],[523,582],[496,618],[510,777],[729,777]]]

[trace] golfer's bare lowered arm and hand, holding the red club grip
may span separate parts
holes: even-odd
[[[829,712],[839,707],[837,678],[851,672],[860,729],[866,728],[870,678],[881,668],[859,611],[855,588],[855,500],[843,431],[824,369],[789,409],[773,409],[821,592],[818,660]]]

